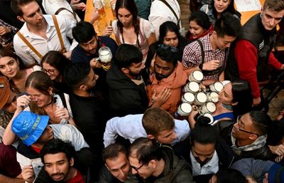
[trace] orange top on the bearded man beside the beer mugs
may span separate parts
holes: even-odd
[[[173,71],[168,78],[157,80],[155,73],[150,75],[151,85],[148,85],[148,98],[151,101],[154,90],[157,91],[157,95],[163,90],[164,87],[170,88],[170,98],[160,107],[168,111],[171,115],[175,113],[180,102],[182,86],[187,82],[187,73],[182,69],[182,63],[178,62],[177,68]],[[151,103],[151,102],[150,102]]]

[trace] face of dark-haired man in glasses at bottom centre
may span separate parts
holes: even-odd
[[[136,157],[129,156],[129,163],[131,165],[132,174],[138,174],[143,179],[147,179],[154,172],[153,167],[148,166],[149,163],[141,164]]]

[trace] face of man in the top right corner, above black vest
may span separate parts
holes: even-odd
[[[261,23],[267,31],[271,31],[284,16],[284,10],[282,11],[271,11],[270,9],[265,9],[261,11]]]

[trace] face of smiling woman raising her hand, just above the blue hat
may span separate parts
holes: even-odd
[[[46,105],[48,105],[51,100],[51,92],[48,91],[50,95],[46,95],[45,93],[41,93],[39,90],[36,90],[35,88],[28,87],[26,88],[28,94],[31,96],[31,100],[38,105],[39,108],[43,108]]]

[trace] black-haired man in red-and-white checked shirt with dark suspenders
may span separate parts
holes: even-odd
[[[201,70],[203,85],[224,80],[224,67],[231,43],[239,36],[241,23],[232,14],[223,14],[214,25],[214,31],[185,47],[182,65],[188,73]]]

